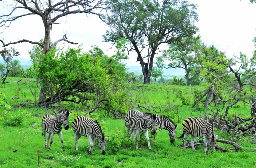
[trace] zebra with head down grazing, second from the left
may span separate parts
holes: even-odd
[[[109,137],[104,137],[100,124],[97,120],[78,116],[76,117],[72,122],[72,127],[75,135],[75,147],[74,149],[78,151],[77,149],[77,140],[81,138],[81,136],[87,136],[88,140],[90,142],[90,150],[89,153],[92,154],[93,146],[95,139],[98,138],[99,141],[99,148],[101,150],[101,154],[105,155],[105,140]]]

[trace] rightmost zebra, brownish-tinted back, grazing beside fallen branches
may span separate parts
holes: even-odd
[[[182,123],[183,133],[178,138],[183,138],[183,150],[186,150],[186,141],[189,134],[191,134],[190,144],[192,146],[192,150],[196,152],[194,146],[195,137],[203,137],[204,144],[204,154],[208,153],[208,147],[211,144],[212,152],[215,149],[216,139],[218,135],[215,136],[213,123],[212,121],[200,119],[200,118],[187,118]]]

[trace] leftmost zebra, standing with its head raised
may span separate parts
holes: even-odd
[[[67,109],[62,109],[56,114],[56,117],[51,114],[47,114],[43,116],[42,119],[42,135],[44,135],[44,141],[45,141],[45,148],[46,146],[48,147],[48,142],[51,136],[51,142],[49,146],[49,151],[51,149],[51,145],[53,143],[53,135],[58,134],[60,137],[60,141],[62,143],[62,149],[65,151],[64,144],[63,144],[63,139],[62,139],[62,124],[67,130],[69,128],[68,121],[69,121],[69,114],[70,112]],[[49,133],[46,139],[46,132]]]

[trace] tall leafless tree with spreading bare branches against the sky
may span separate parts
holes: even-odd
[[[28,42],[40,46],[42,48],[42,55],[49,52],[60,41],[66,41],[70,44],[77,44],[67,40],[66,34],[63,36],[63,38],[51,44],[51,30],[53,27],[52,25],[59,24],[56,22],[59,18],[66,17],[69,14],[75,13],[100,15],[101,10],[104,9],[102,5],[102,0],[64,0],[58,2],[48,0],[11,0],[5,3],[3,2],[3,0],[0,0],[0,2],[1,1],[2,5],[11,9],[9,13],[0,15],[0,27],[3,28],[3,30],[9,27],[11,22],[14,22],[14,20],[28,15],[38,15],[42,19],[44,26],[43,43],[33,42],[27,39],[5,43],[3,39],[0,39],[2,45],[5,47],[11,44]],[[43,86],[41,85],[41,88],[42,87]],[[40,90],[39,100],[46,98],[44,92],[44,90]]]

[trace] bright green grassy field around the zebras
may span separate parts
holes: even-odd
[[[15,81],[18,78],[9,80]],[[19,79],[18,79],[19,80]],[[54,135],[51,150],[44,148],[44,138],[41,136],[42,113],[45,109],[34,108],[32,106],[19,106],[26,102],[34,102],[28,83],[35,88],[35,92],[39,92],[39,86],[36,87],[33,79],[23,79],[19,82],[20,91],[17,94],[17,83],[8,83],[0,87],[0,92],[6,95],[5,100],[11,104],[12,108],[9,112],[0,111],[0,115],[4,116],[4,120],[0,121],[0,167],[256,167],[256,154],[251,150],[240,150],[238,153],[231,152],[233,146],[217,142],[220,146],[229,149],[230,152],[222,153],[215,151],[209,155],[203,154],[203,145],[198,146],[197,152],[187,149],[185,152],[178,146],[182,145],[182,141],[175,139],[174,144],[169,142],[168,132],[161,130],[157,132],[157,140],[153,141],[150,136],[152,151],[148,150],[146,138],[140,135],[139,149],[136,150],[136,143],[132,139],[127,138],[127,131],[124,128],[124,121],[113,118],[103,118],[100,112],[94,113],[93,118],[97,118],[101,124],[105,136],[110,137],[106,140],[106,155],[101,155],[101,151],[96,140],[93,154],[88,154],[90,144],[87,137],[81,137],[78,140],[78,152],[74,150],[74,135],[72,130],[72,119],[76,115],[80,115],[81,111],[72,110],[69,126],[71,129],[62,130],[65,151],[62,151],[61,142],[58,135]],[[36,88],[38,90],[36,90]],[[178,124],[176,137],[182,134],[182,121],[191,116],[199,116],[195,108],[190,105],[182,106],[179,97],[179,91],[186,95],[187,101],[193,103],[193,90],[203,90],[203,86],[164,86],[164,85],[130,85],[130,93],[134,99],[134,103],[144,107],[158,106],[160,104],[171,104],[175,106],[172,112],[165,115]],[[11,100],[16,95],[20,99]],[[24,96],[25,95],[25,96]],[[64,104],[63,108],[74,108],[72,104]],[[129,110],[129,109],[127,109]],[[138,109],[140,110],[140,109]],[[198,110],[198,109],[197,109]],[[204,109],[199,109],[204,111]],[[140,110],[146,112],[146,110]],[[229,113],[239,113],[249,115],[250,111],[243,107],[242,104],[236,108],[230,108]],[[162,114],[159,112],[159,114]],[[15,121],[15,122],[13,122]],[[13,123],[12,123],[13,122]],[[13,126],[8,126],[11,125]],[[17,126],[15,126],[17,125]],[[256,144],[250,142],[248,137],[230,136],[226,131],[215,130],[219,133],[218,138],[232,140],[243,146],[244,148],[256,148]],[[150,135],[150,133],[149,133]],[[198,141],[198,138],[196,138]],[[13,152],[14,150],[19,150]],[[116,148],[116,149],[115,149]]]

